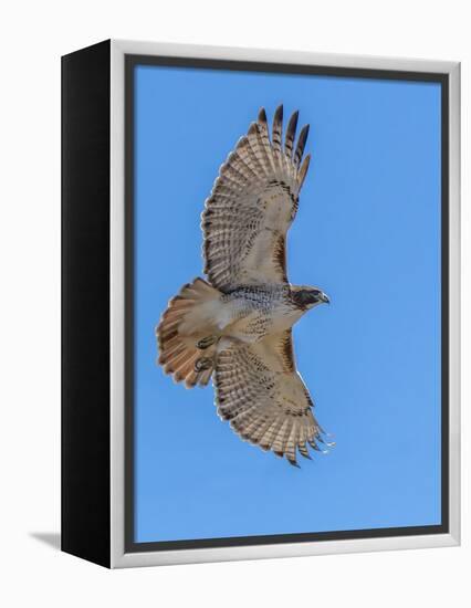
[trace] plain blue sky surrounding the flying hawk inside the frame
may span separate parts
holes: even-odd
[[[440,523],[440,87],[137,66],[136,542]],[[201,275],[200,213],[260,106],[311,124],[292,283],[331,306],[294,329],[326,455],[241,441],[213,391],[165,376],[154,327]]]

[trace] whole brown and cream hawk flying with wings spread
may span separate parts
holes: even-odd
[[[201,216],[207,280],[170,300],[157,326],[158,363],[188,388],[212,377],[222,420],[245,441],[297,465],[322,429],[296,370],[292,326],[328,303],[320,289],[292,285],[286,233],[310,166],[308,125],[296,141],[299,112],[283,143],[283,106],[270,138],[262,108],[219,170]]]

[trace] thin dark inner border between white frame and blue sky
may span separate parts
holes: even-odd
[[[441,523],[437,525],[276,534],[226,538],[199,538],[136,543],[134,541],[134,70],[136,65],[164,65],[290,74],[312,74],[378,80],[435,82],[441,86]],[[125,551],[158,552],[184,548],[274,545],[313,541],[435,535],[449,532],[449,76],[446,73],[291,65],[232,60],[134,55],[125,57],[125,297],[126,297],[126,403],[125,403]]]

